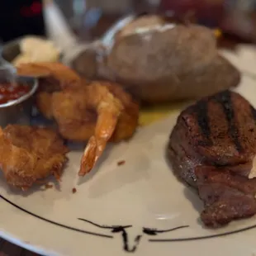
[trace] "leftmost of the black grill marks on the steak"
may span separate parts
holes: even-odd
[[[198,145],[206,146],[212,145],[211,141],[211,127],[209,126],[209,118],[208,118],[208,104],[206,100],[202,100],[195,105],[194,111],[197,113],[197,123],[201,129],[201,135],[203,139],[198,141]]]

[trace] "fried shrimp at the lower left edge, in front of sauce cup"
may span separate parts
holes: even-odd
[[[0,168],[7,183],[26,190],[40,179],[59,180],[68,149],[53,130],[36,126],[0,128]]]

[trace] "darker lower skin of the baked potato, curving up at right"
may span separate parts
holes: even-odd
[[[228,60],[217,55],[206,69],[192,71],[178,79],[170,78],[159,83],[129,85],[129,89],[142,103],[154,104],[198,99],[235,87],[239,82],[239,71]]]

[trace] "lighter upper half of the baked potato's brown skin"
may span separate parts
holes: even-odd
[[[117,37],[107,65],[117,78],[153,82],[203,69],[216,53],[216,38],[208,28],[173,25]]]

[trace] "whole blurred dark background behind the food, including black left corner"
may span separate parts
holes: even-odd
[[[1,1],[0,40],[45,35],[43,7],[53,1]],[[168,12],[191,15],[203,25],[220,28],[226,36],[256,41],[256,0],[55,0],[55,3],[81,40],[101,36],[129,12]]]

